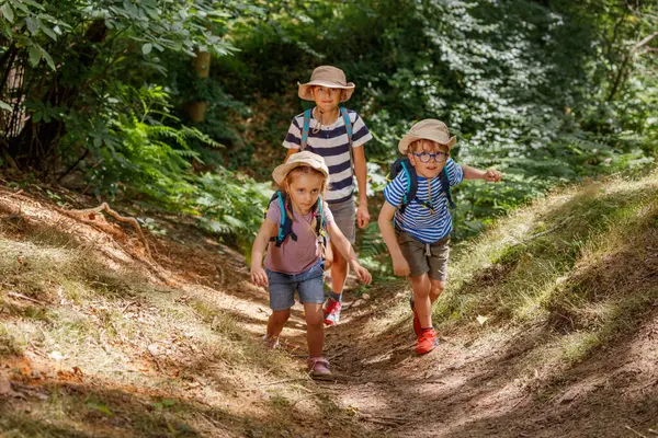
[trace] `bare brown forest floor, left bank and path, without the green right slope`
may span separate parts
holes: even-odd
[[[0,436],[658,436],[658,300],[565,368],[536,353],[560,336],[546,323],[440,325],[419,357],[408,284],[375,284],[347,292],[336,378],[314,381],[302,308],[282,348],[261,344],[268,295],[242,255],[162,215],[147,250],[91,204],[0,188]],[[633,267],[653,290],[657,262]]]

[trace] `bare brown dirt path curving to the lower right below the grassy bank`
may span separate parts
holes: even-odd
[[[658,436],[658,309],[619,345],[559,379],[530,376],[533,347],[547,335],[466,330],[442,337],[427,356],[413,353],[409,320],[385,309],[405,292],[374,291],[327,331],[327,357],[343,378],[320,383],[374,433],[395,437]],[[347,297],[347,307],[354,303]],[[360,306],[359,306],[360,304]],[[373,333],[373,326],[379,327]],[[297,339],[300,342],[302,339]]]

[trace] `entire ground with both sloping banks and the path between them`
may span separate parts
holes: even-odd
[[[177,217],[149,222],[149,255],[132,227],[71,211],[89,199],[0,188],[0,430],[658,435],[657,200],[657,174],[590,182],[457,245],[423,357],[407,283],[350,292],[327,333],[339,378],[314,382],[300,308],[284,348],[260,344],[266,293],[241,255]]]

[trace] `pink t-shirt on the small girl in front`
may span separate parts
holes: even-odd
[[[322,204],[325,227],[328,227],[333,223],[333,215],[327,203],[322,201]],[[277,226],[281,223],[281,207],[277,201],[270,205],[265,217]],[[315,228],[310,227],[313,212],[302,216],[293,211],[293,232],[297,234],[297,241],[295,242],[288,235],[280,247],[276,247],[274,242],[270,242],[265,255],[265,267],[270,270],[292,275],[302,274],[320,260],[318,238],[315,234]]]

